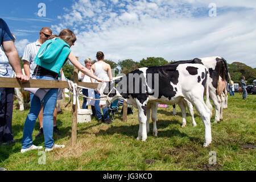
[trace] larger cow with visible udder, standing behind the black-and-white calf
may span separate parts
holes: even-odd
[[[214,109],[215,109],[215,118],[214,123],[220,122],[220,119],[223,119],[222,117],[222,110],[223,108],[227,108],[227,102],[228,102],[228,94],[226,92],[226,84],[229,80],[230,84],[233,84],[233,81],[230,78],[229,72],[228,72],[228,66],[226,63],[226,60],[222,57],[213,56],[213,57],[203,57],[201,59],[193,59],[193,60],[186,60],[186,61],[177,61],[174,64],[204,64],[205,67],[209,69],[210,74],[210,83],[209,83],[209,95],[213,102]],[[182,114],[182,126],[184,127],[187,125],[186,122],[186,109],[185,106],[187,105],[189,113],[192,117],[192,125],[196,126],[195,119],[193,117],[193,106],[189,104],[189,101],[183,102],[178,104],[181,109]],[[153,107],[151,109],[154,109]],[[150,112],[150,110],[148,110]],[[155,113],[155,111],[152,110],[152,113]],[[174,113],[176,113],[175,107],[174,107]],[[148,115],[150,115],[148,113]],[[155,117],[154,117],[155,118]],[[147,125],[149,122],[149,117],[147,120]],[[148,129],[149,131],[149,129]],[[155,131],[153,129],[153,134],[155,135]]]

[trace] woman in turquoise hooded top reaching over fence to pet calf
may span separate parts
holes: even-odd
[[[40,47],[38,54],[35,57],[35,64],[37,67],[34,70],[32,77],[38,80],[57,80],[60,77],[60,69],[63,65],[69,61],[75,67],[77,67],[82,73],[88,75],[97,81],[101,82],[100,78],[96,77],[85,68],[76,59],[74,53],[70,47],[76,42],[76,35],[69,29],[65,29],[60,32],[57,38],[47,40]],[[42,146],[34,146],[32,144],[32,132],[35,127],[35,121],[38,117],[40,108],[43,105],[43,129],[44,129],[44,146],[46,152],[53,150],[53,148],[63,148],[64,145],[57,145],[53,142],[53,111],[56,106],[58,89],[49,89],[42,100],[39,97],[32,94],[30,113],[28,113],[23,131],[22,138],[22,150],[20,152],[26,152],[29,150],[40,149]]]

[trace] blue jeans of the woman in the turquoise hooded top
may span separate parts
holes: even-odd
[[[55,80],[48,76],[36,76],[38,80]],[[50,89],[43,98],[43,130],[44,146],[53,147],[53,111],[57,102],[58,89]],[[42,102],[34,94],[30,94],[30,112],[27,115],[22,138],[22,149],[32,146],[32,133],[35,127],[36,118],[41,110]]]

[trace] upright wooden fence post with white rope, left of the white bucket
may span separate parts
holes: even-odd
[[[76,57],[79,60],[79,57]],[[74,84],[78,84],[78,69],[74,67]],[[76,98],[75,98],[76,99]],[[77,101],[79,102],[79,101]],[[71,135],[71,147],[74,147],[77,140],[77,102],[76,105],[72,104],[72,135]]]

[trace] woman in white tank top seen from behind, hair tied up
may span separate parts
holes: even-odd
[[[104,58],[105,58],[104,53],[101,51],[98,51],[96,57],[98,61],[92,65],[93,73],[97,77],[102,78],[103,80],[113,80],[110,65],[104,62]],[[97,80],[95,82],[97,82]],[[94,91],[94,94],[96,99],[100,98],[100,93],[98,93],[97,91]],[[112,121],[109,118],[108,108],[106,107],[102,108],[102,112],[104,114],[104,117],[102,117],[101,108],[99,104],[100,104],[100,101],[96,100],[95,110],[96,110],[98,122],[104,122],[109,125],[110,123],[112,123]]]

